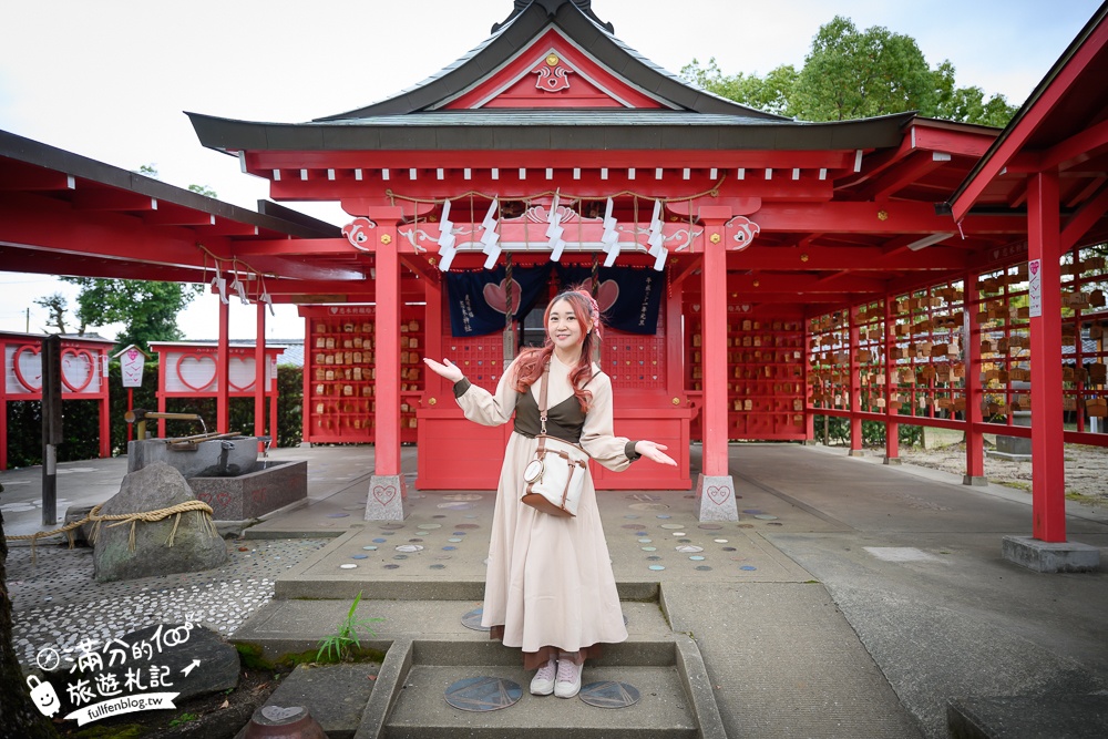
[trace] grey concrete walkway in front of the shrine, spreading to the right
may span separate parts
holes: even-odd
[[[409,474],[414,454],[404,448]],[[362,520],[372,448],[274,456],[309,460],[309,501],[248,528],[252,546],[332,538],[276,576],[278,601],[243,629],[297,603],[284,597],[336,599],[294,619],[321,632],[360,589],[382,601],[430,593],[447,619],[476,605],[491,493],[413,490],[398,528]],[[120,460],[61,466],[73,471],[59,476],[59,497],[74,505],[105,500],[125,472]],[[733,445],[731,472],[738,522],[699,524],[686,492],[599,496],[623,597],[656,591],[673,633],[693,637],[728,737],[940,738],[952,699],[1108,691],[1106,567],[1042,575],[1001,557],[1003,535],[1030,533],[1029,495],[796,444]],[[38,523],[37,474],[0,478],[9,533]],[[1075,505],[1070,540],[1108,554],[1108,519]],[[402,638],[404,619],[393,620],[394,634],[380,633]]]

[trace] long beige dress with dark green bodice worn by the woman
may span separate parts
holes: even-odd
[[[511,420],[513,412],[519,417],[496,489],[481,623],[493,629],[494,637],[502,630],[504,645],[522,648],[525,666],[534,669],[557,650],[578,653],[578,661],[595,656],[596,645],[625,640],[627,628],[592,475],[585,478],[576,517],[552,516],[520,502],[523,470],[537,447],[535,439],[521,433],[521,427],[538,428],[540,383],[525,398],[512,387],[515,369],[513,362],[495,394],[466,380],[456,383],[454,392],[471,421],[499,425]],[[593,460],[609,470],[626,469],[638,455],[634,442],[613,434],[608,376],[594,366],[586,386],[593,397],[582,419],[570,387],[571,369],[556,357],[551,359],[547,432],[562,435],[552,428],[572,429],[576,421],[577,443]]]

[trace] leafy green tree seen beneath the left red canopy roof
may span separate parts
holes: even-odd
[[[202,289],[198,285],[142,279],[62,277],[62,280],[81,288],[76,316],[82,326],[123,324],[116,343],[137,343],[144,349],[151,341],[184,337],[177,328],[177,314]]]

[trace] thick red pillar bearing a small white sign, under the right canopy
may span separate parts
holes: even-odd
[[[1058,208],[1057,172],[1035,174],[1028,182],[1027,258],[1032,291],[1037,281],[1042,297],[1039,310],[1030,298],[1032,535],[1044,542],[1066,541]]]

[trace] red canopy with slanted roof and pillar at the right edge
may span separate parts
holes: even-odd
[[[1034,537],[1066,541],[1065,470],[1060,440],[1102,445],[1104,439],[1066,432],[1069,397],[1104,419],[1104,252],[1083,258],[1083,247],[1108,240],[1108,6],[1102,6],[1047,73],[1007,129],[948,201],[961,225],[979,213],[999,213],[1026,224],[1030,338],[1030,429]],[[965,227],[965,226],[963,226]],[[1066,280],[1064,281],[1064,271]],[[1088,288],[1091,287],[1091,290]],[[1083,290],[1085,288],[1085,290]],[[1087,301],[1083,295],[1097,295]],[[1091,309],[1091,310],[1090,310]],[[1064,312],[1070,320],[1059,321]],[[1066,377],[1064,333],[1094,322],[1097,373]],[[1074,331],[1073,327],[1077,326]],[[1080,356],[1080,355],[1078,355]],[[1076,386],[1074,394],[1060,388]],[[1099,393],[1087,393],[1098,387]],[[1076,406],[1076,403],[1075,403]]]

